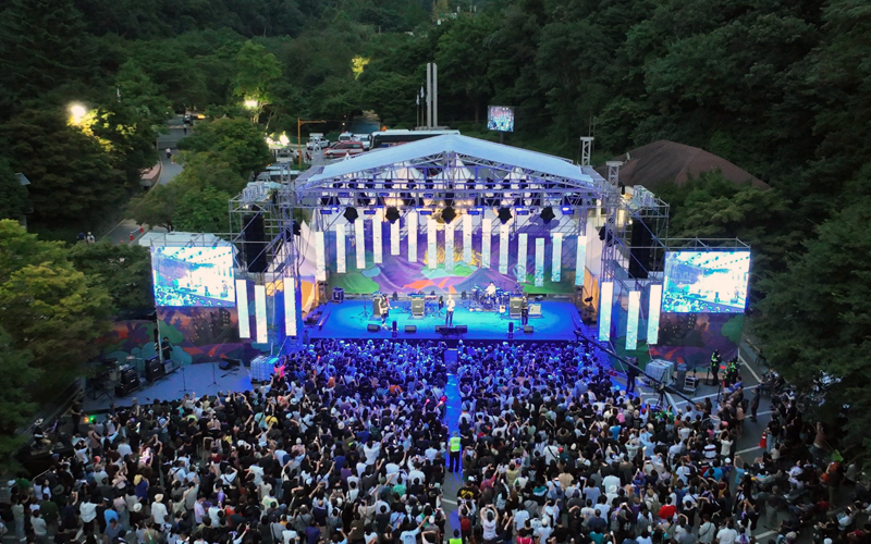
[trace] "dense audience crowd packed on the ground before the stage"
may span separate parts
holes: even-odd
[[[750,544],[784,512],[792,543],[856,470],[824,460],[825,429],[807,438],[788,397],[743,461],[741,383],[660,407],[585,342],[461,342],[445,362],[434,342],[321,339],[255,391],[75,421],[74,455],[10,482],[2,530],[38,544]],[[868,541],[857,512],[820,539]]]

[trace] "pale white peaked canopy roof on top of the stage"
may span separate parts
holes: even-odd
[[[420,159],[439,154],[450,154],[453,159],[461,161],[474,158],[477,159],[474,162],[486,161],[494,170],[506,172],[519,168],[533,176],[560,178],[587,187],[598,181],[584,173],[577,164],[559,157],[469,136],[444,135],[377,149],[348,160],[334,162],[324,166],[322,172],[305,180],[305,183],[306,185],[317,185],[336,177],[376,173],[387,168],[393,168],[395,164],[416,163]]]

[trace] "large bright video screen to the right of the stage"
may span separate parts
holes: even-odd
[[[662,311],[743,313],[750,251],[672,251],[665,256]]]

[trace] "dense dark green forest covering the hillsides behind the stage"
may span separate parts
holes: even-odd
[[[297,118],[328,120],[309,125],[328,132],[373,111],[409,127],[434,61],[440,120],[464,133],[490,137],[486,106],[512,104],[513,145],[576,159],[578,137],[593,134],[604,158],[665,138],[771,185],[709,176],[670,187],[671,234],[751,243],[751,324],[768,360],[802,386],[822,371],[842,378],[830,394],[870,412],[867,1],[4,0],[0,10],[0,214],[32,207],[44,237],[123,207],[157,160],[163,122],[185,109],[228,120],[186,146],[187,182],[132,209],[218,228],[197,202],[219,207],[267,160],[256,146],[224,145],[242,120],[295,135]],[[87,106],[78,123],[71,102]],[[850,418],[846,436],[871,446],[868,424]]]

